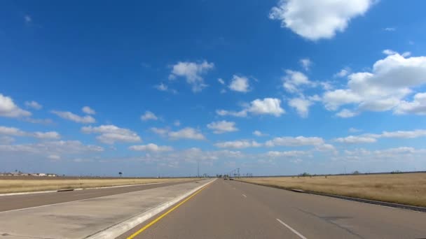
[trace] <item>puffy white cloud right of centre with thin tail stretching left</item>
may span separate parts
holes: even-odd
[[[281,100],[276,98],[255,99],[240,111],[216,110],[216,113],[221,116],[231,115],[235,117],[247,117],[247,113],[280,117],[280,115],[285,113],[285,110],[280,105]]]

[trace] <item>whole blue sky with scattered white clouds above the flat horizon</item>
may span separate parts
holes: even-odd
[[[4,1],[0,171],[426,170],[423,1]]]

